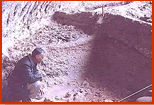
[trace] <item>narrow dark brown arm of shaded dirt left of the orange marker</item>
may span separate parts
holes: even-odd
[[[62,25],[73,25],[76,29],[82,30],[86,34],[93,34],[98,15],[94,16],[90,12],[82,12],[69,15],[63,12],[55,12],[53,19]]]

